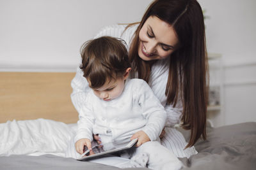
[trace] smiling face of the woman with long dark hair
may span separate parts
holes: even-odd
[[[156,16],[147,18],[139,33],[138,55],[143,60],[166,59],[178,45],[172,25]]]

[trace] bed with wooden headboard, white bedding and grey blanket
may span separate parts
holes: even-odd
[[[76,131],[74,75],[0,73],[0,169],[119,169],[64,157]],[[182,169],[256,169],[256,122],[207,127],[207,140],[195,148],[198,154],[180,158]]]

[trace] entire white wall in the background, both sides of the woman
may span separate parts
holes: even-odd
[[[0,71],[75,71],[79,48],[105,25],[140,21],[152,0],[0,0]],[[256,121],[255,0],[199,0],[207,48],[224,64],[217,125]],[[221,120],[220,120],[221,118]]]

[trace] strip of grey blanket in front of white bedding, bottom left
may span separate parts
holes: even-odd
[[[40,169],[60,169],[60,170],[115,170],[118,167],[106,166],[93,162],[81,162],[72,158],[58,157],[55,155],[28,156],[12,155],[11,157],[0,157],[0,169],[19,169],[19,170],[40,170]],[[136,168],[129,168],[129,170]],[[147,168],[140,168],[141,170]]]

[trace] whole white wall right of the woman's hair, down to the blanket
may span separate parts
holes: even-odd
[[[205,20],[207,50],[223,60],[223,112],[216,125],[256,122],[256,1],[199,0]],[[216,115],[214,115],[216,114]]]

